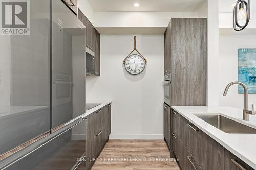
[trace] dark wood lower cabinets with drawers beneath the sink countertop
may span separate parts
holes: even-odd
[[[174,110],[173,153],[183,170],[253,170]]]

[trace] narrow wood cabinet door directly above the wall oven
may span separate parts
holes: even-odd
[[[171,23],[171,22],[170,22]],[[164,74],[170,73],[170,23],[164,33]]]

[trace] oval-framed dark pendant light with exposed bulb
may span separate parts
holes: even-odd
[[[234,30],[241,31],[246,28],[250,21],[250,0],[238,0],[236,5],[234,6]],[[245,18],[245,24],[243,26],[240,25],[239,20],[243,20]]]

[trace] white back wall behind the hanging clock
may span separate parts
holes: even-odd
[[[145,70],[132,76],[123,59],[133,50],[134,35],[101,35],[101,75],[86,77],[86,99],[112,103],[115,139],[163,139],[163,35],[137,35],[147,58]]]

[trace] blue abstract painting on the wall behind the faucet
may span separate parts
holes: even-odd
[[[256,94],[256,49],[238,49],[238,81],[247,86],[249,94]],[[244,93],[242,86],[238,92]]]

